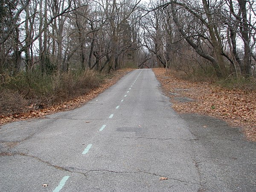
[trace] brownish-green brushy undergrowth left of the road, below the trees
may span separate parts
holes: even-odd
[[[0,115],[20,113],[84,95],[104,80],[99,73],[87,70],[77,73],[45,74],[21,72],[3,75],[0,84]]]

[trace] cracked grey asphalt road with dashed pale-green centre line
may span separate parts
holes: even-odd
[[[256,144],[171,106],[143,69],[73,111],[3,125],[0,191],[256,191]]]

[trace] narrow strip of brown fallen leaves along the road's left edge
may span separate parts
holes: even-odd
[[[41,109],[41,110],[36,110],[36,111],[31,110],[28,113],[17,113],[12,115],[0,116],[0,125],[3,125],[8,122],[17,121],[17,120],[27,120],[27,119],[38,118],[38,117],[42,117],[44,115],[49,115],[59,111],[68,111],[68,110],[80,107],[81,105],[85,104],[86,102],[90,101],[91,99],[99,95],[99,93],[102,93],[111,85],[115,84],[116,81],[118,81],[122,76],[124,76],[126,73],[132,70],[134,69],[117,70],[113,72],[111,78],[106,79],[105,83],[102,84],[100,87],[94,90],[91,90],[88,94],[84,96],[79,96],[75,99],[71,99],[70,101],[63,102],[60,105],[54,105],[54,106]]]

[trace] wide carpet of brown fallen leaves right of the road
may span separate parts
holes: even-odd
[[[256,92],[227,90],[210,83],[192,83],[176,79],[165,69],[154,69],[173,108],[179,113],[199,113],[221,118],[231,126],[243,127],[249,140],[256,141]],[[180,89],[177,90],[177,89]],[[187,90],[183,90],[187,89]],[[178,97],[189,97],[195,102],[178,102]]]

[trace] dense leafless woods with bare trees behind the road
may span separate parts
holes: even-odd
[[[81,88],[87,70],[97,82],[99,73],[125,67],[256,75],[250,0],[1,0],[0,23],[2,101]]]

